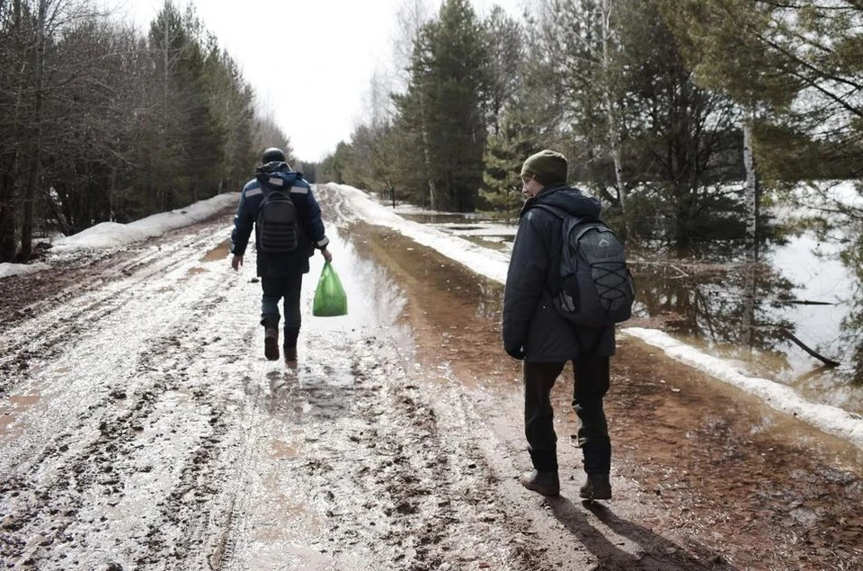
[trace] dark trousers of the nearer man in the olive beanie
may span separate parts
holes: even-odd
[[[578,445],[582,448],[584,471],[608,474],[611,470],[609,424],[602,409],[602,397],[609,390],[609,357],[583,355],[573,361],[575,387],[573,408],[578,415]],[[524,434],[530,459],[541,471],[557,469],[555,411],[551,389],[564,370],[563,362],[524,361]]]

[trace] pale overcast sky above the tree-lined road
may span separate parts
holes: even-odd
[[[115,0],[141,31],[164,0]],[[396,10],[404,0],[197,0],[196,12],[243,69],[300,159],[317,161],[347,140],[376,69],[389,71]],[[472,0],[513,16],[525,0]],[[113,3],[112,3],[113,4]],[[185,5],[185,0],[174,0]],[[431,0],[436,12],[440,2]]]

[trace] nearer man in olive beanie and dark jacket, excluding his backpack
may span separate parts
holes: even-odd
[[[521,168],[519,230],[503,293],[503,348],[524,361],[524,430],[534,469],[520,477],[522,486],[542,495],[558,495],[557,436],[550,393],[566,361],[573,361],[573,406],[581,426],[587,483],[580,495],[610,499],[611,443],[602,397],[609,389],[609,357],[614,354],[614,326],[574,326],[552,302],[560,290],[562,223],[538,205],[576,217],[598,217],[600,202],[566,184],[565,156],[551,150],[529,156]]]

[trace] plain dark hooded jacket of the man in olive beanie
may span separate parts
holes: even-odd
[[[555,206],[574,216],[599,216],[600,202],[566,184],[549,185],[525,201],[503,290],[503,347],[522,348],[527,361],[564,362],[581,354],[614,354],[614,326],[575,326],[557,314],[561,220],[535,208]]]

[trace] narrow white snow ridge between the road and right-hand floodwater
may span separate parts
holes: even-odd
[[[489,250],[458,236],[411,222],[387,210],[368,194],[344,184],[332,184],[350,204],[355,215],[370,224],[387,226],[413,238],[416,242],[428,245],[471,270],[501,283],[506,281],[509,255]],[[345,213],[350,216],[349,213]],[[670,335],[656,329],[628,327],[621,329],[624,335],[631,335],[645,343],[663,350],[669,357],[681,361],[698,370],[703,370],[716,379],[723,380],[737,388],[760,397],[768,406],[781,412],[794,415],[809,424],[817,426],[826,433],[846,439],[863,448],[863,419],[834,406],[820,405],[806,401],[793,388],[769,379],[747,377],[737,370],[736,363],[726,361],[701,352],[695,347],[681,343]]]

